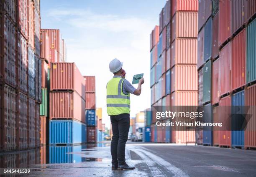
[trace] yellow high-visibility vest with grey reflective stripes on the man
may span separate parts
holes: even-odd
[[[124,78],[112,78],[107,84],[107,112],[109,116],[130,114],[130,93],[123,93]]]

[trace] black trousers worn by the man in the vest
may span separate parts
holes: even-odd
[[[125,163],[125,143],[130,128],[130,114],[110,116],[113,137],[111,141],[112,164]]]

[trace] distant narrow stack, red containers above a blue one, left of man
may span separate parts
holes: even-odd
[[[96,113],[96,89],[95,76],[84,76],[86,89],[85,94],[85,119],[87,122],[87,142],[97,142],[97,113]],[[102,123],[102,120],[99,122]]]

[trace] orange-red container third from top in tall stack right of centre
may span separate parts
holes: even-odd
[[[197,39],[175,39],[171,49],[171,68],[178,64],[197,64]]]

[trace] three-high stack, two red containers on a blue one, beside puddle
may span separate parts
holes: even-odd
[[[85,81],[75,63],[51,63],[49,144],[87,142]]]

